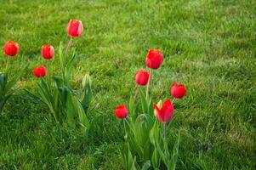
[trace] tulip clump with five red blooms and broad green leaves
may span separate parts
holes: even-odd
[[[162,52],[150,49],[145,58],[145,65],[150,71],[139,70],[135,73],[138,87],[128,107],[118,105],[114,111],[115,116],[123,120],[125,127],[126,144],[122,159],[126,169],[175,169],[180,133],[171,150],[168,146],[168,123],[174,119],[174,99],[183,98],[186,89],[184,84],[174,82],[170,89],[173,101],[166,99],[163,103],[162,100],[157,104],[152,102],[151,75],[153,70],[161,67],[162,62]],[[135,105],[137,94],[140,105]]]

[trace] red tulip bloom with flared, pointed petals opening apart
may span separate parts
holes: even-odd
[[[156,111],[156,116],[160,122],[170,122],[174,117],[174,105],[170,99],[167,99],[162,108],[159,109],[157,105],[153,105]]]

